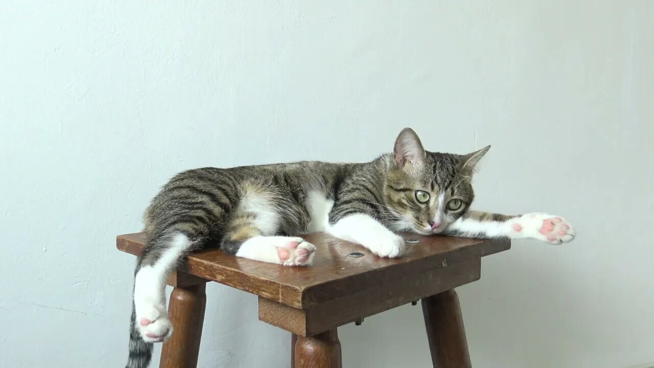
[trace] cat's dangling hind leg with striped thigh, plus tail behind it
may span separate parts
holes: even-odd
[[[127,367],[145,366],[152,356],[152,342],[162,342],[173,333],[166,310],[166,279],[188,253],[220,230],[231,200],[219,188],[182,175],[148,206],[144,216],[148,237],[134,275]]]

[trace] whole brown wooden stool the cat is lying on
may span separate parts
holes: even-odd
[[[508,240],[403,234],[407,254],[379,258],[327,234],[305,236],[317,246],[313,267],[283,267],[232,257],[218,249],[190,255],[168,279],[173,337],[160,367],[193,368],[204,320],[205,284],[220,282],[259,296],[259,320],[292,333],[291,367],[340,368],[337,327],[422,299],[434,367],[471,367],[455,287],[479,280],[481,257],[510,248]],[[417,242],[416,242],[417,241]],[[118,236],[118,249],[141,254],[145,234]]]

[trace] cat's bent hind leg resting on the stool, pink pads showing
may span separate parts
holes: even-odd
[[[236,257],[284,266],[311,266],[316,247],[298,236],[276,236],[277,202],[262,191],[247,193],[228,221],[220,248]]]

